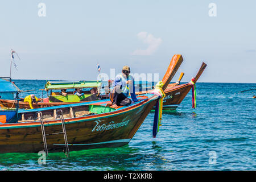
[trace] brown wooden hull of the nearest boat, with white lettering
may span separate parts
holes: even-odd
[[[156,100],[147,100],[128,110],[88,117],[65,119],[69,150],[118,147],[130,142]],[[47,133],[62,131],[60,121],[45,121]],[[63,135],[47,136],[49,150],[64,148]],[[44,149],[40,122],[12,123],[0,126],[0,153],[38,152]]]

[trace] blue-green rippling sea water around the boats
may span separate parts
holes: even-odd
[[[22,97],[42,97],[46,81],[14,80]],[[38,154],[0,154],[0,170],[255,170],[256,84],[197,83],[197,107],[191,91],[152,138],[150,113],[129,144],[117,148]],[[45,94],[45,93],[44,93]],[[44,97],[46,94],[44,95]],[[43,146],[42,146],[43,147]]]

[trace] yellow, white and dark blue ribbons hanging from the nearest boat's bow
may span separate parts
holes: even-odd
[[[159,131],[159,126],[161,126],[162,121],[162,110],[163,110],[163,98],[166,97],[166,94],[163,92],[163,82],[159,81],[156,84],[156,88],[151,92],[158,96],[159,100],[156,102],[155,105],[155,116],[154,116],[154,123],[153,123],[153,137],[156,137],[156,134]]]

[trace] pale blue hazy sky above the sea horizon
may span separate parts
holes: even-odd
[[[39,3],[46,16],[39,17]],[[217,16],[208,7],[215,3]],[[183,55],[190,81],[253,82],[256,78],[256,1],[1,1],[0,76],[14,79],[96,80],[101,72],[159,73]]]

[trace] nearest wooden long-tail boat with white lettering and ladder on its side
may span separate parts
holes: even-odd
[[[163,90],[182,61],[181,55],[172,57],[162,79]],[[0,125],[0,153],[123,146],[159,100],[152,93],[139,97],[141,101],[116,110],[103,100],[19,111],[18,122]]]

